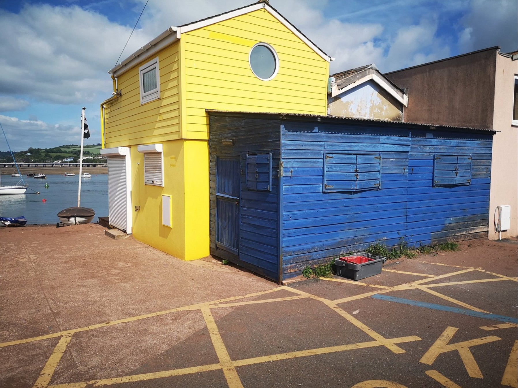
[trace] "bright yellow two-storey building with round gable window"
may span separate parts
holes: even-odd
[[[331,60],[261,2],[169,27],[111,69],[110,224],[184,260],[209,255],[206,110],[325,115]]]

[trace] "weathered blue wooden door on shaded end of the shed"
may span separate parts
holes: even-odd
[[[216,247],[239,255],[240,156],[216,157]]]

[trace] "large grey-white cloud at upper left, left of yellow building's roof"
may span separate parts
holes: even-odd
[[[0,11],[0,93],[43,102],[83,104],[111,93],[106,71],[131,29],[78,6],[30,5],[19,14]],[[135,40],[150,37],[140,30]],[[152,38],[152,37],[151,37]]]

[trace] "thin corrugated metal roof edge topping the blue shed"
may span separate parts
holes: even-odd
[[[314,119],[326,119],[326,120],[340,120],[340,121],[362,121],[362,122],[371,122],[373,124],[391,124],[391,125],[404,125],[404,126],[421,126],[421,127],[435,127],[435,128],[450,128],[452,130],[469,130],[469,131],[483,131],[483,132],[500,132],[494,131],[487,128],[473,128],[467,126],[453,126],[453,125],[443,125],[443,124],[424,124],[424,123],[412,123],[412,122],[400,122],[400,121],[390,121],[390,120],[381,120],[381,119],[365,119],[360,117],[340,117],[340,116],[321,116],[319,114],[310,114],[310,113],[264,113],[264,112],[237,112],[230,110],[216,110],[216,109],[206,109],[207,113],[230,113],[230,114],[256,114],[262,116],[274,116],[279,117],[281,119],[289,118],[289,117],[300,117],[300,118],[314,118]]]

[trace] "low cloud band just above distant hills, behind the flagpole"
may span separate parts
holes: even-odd
[[[63,144],[79,144],[79,125],[48,124],[39,120],[19,120],[0,114],[0,122],[13,151],[33,148],[50,148]],[[99,134],[91,130],[89,143],[97,143]],[[5,140],[4,140],[5,141]],[[4,149],[5,151],[5,149]]]

